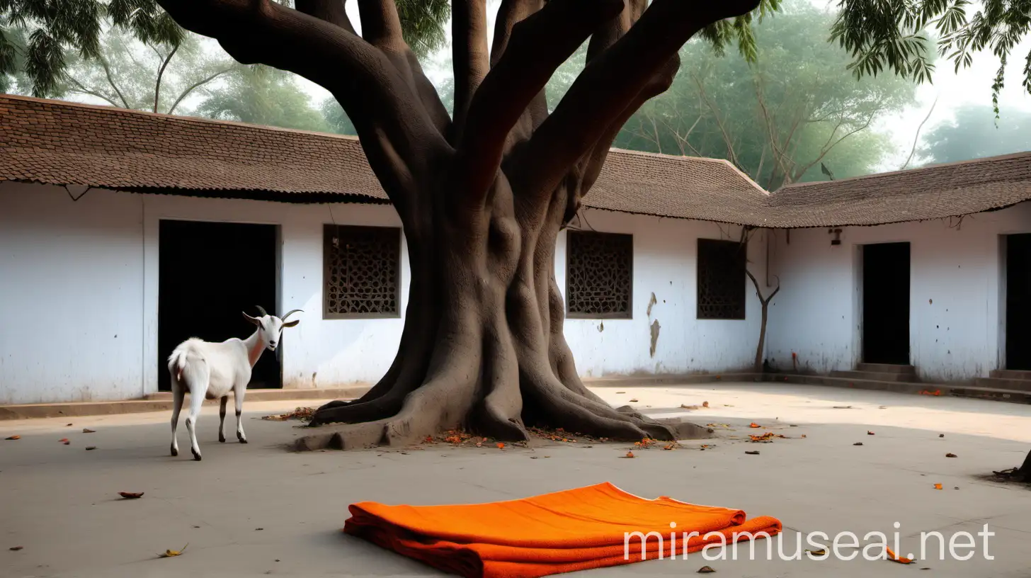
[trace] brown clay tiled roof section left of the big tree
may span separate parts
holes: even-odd
[[[387,201],[355,137],[11,96],[0,97],[0,179]]]

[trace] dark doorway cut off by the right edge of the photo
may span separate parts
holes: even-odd
[[[1006,368],[1031,371],[1031,233],[1006,236]]]

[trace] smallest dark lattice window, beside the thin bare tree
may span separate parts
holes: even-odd
[[[747,245],[698,239],[698,319],[744,319]]]

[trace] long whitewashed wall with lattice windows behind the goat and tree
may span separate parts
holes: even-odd
[[[73,202],[60,187],[0,183],[0,404],[126,399],[157,391],[162,219],[279,225],[276,309],[305,311],[278,349],[284,386],[374,382],[393,361],[404,321],[322,319],[323,225],[400,223],[390,206],[335,204],[332,216],[330,211],[327,204],[103,190]],[[747,320],[695,319],[696,239],[738,238],[739,228],[606,212],[587,217],[596,230],[634,234],[634,313],[630,320],[567,320],[581,375],[750,366],[759,330],[751,285]],[[750,245],[750,266],[759,279],[764,256],[758,236]],[[408,299],[403,244],[401,260],[403,312]],[[559,238],[556,267],[564,290],[565,235]],[[653,292],[657,302],[648,316]],[[655,320],[660,331],[653,357]]]

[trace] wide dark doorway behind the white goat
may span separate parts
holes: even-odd
[[[190,338],[246,339],[241,312],[275,315],[275,225],[161,221],[158,266],[158,389],[171,391],[168,356]],[[251,389],[282,386],[279,360],[266,351]]]

